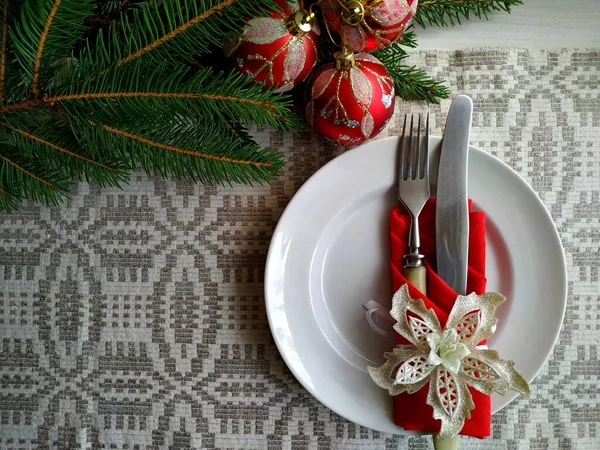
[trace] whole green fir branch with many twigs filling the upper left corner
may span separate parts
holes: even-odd
[[[280,172],[283,155],[261,149],[247,126],[299,129],[291,98],[185,63],[271,0],[131,0],[119,3],[121,25],[109,35],[82,26],[91,0],[2,2],[0,209],[22,199],[56,203],[67,180],[119,185],[138,162],[210,183],[264,182]],[[100,0],[97,11],[116,17],[108,4]]]

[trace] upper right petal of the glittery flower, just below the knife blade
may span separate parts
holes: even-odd
[[[446,322],[446,329],[454,328],[461,342],[474,349],[494,334],[494,326],[498,322],[494,313],[505,300],[506,297],[494,292],[459,295]]]

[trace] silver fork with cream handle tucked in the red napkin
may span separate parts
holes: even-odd
[[[410,214],[408,253],[404,255],[404,275],[423,294],[427,295],[424,256],[419,252],[419,214],[429,199],[429,113],[421,137],[421,114],[418,115],[417,132],[414,130],[414,114],[410,117],[407,134],[408,114],[404,116],[404,127],[400,138],[400,164],[398,167],[398,199]]]

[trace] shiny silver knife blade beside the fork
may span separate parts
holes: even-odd
[[[473,101],[458,95],[450,105],[438,167],[435,210],[437,273],[459,294],[467,290],[469,206],[467,169]]]

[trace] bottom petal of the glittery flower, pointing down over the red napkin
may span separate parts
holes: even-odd
[[[433,408],[434,419],[442,422],[442,439],[456,436],[475,408],[467,384],[443,366],[438,366],[430,378],[427,404]]]

